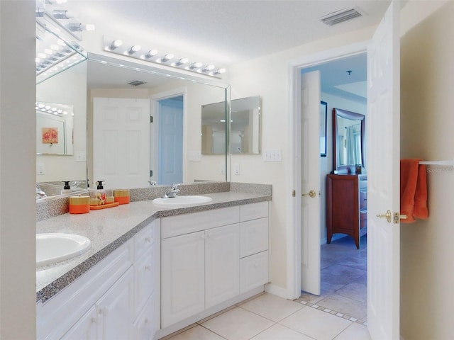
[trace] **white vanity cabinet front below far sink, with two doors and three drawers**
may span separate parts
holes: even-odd
[[[261,202],[161,219],[162,329],[184,327],[268,282],[267,217]]]

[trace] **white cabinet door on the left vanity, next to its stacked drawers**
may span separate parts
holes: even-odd
[[[131,267],[96,302],[99,313],[99,339],[133,339],[133,281]]]

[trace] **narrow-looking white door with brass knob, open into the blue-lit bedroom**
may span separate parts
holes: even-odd
[[[319,112],[320,72],[301,74],[301,290],[315,295],[320,295]]]

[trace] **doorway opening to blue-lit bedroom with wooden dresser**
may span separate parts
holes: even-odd
[[[306,293],[301,287],[299,300],[366,322],[367,234],[362,229],[364,236],[359,250],[353,238],[345,234],[334,234],[331,243],[327,243],[326,176],[336,169],[333,108],[367,114],[367,55],[362,53],[305,67],[301,74],[316,70],[320,72],[320,98],[328,106],[326,117],[321,116],[321,126],[326,127],[326,134],[321,136],[326,137],[326,154],[320,158],[320,295]],[[345,202],[345,209],[354,210],[353,202]],[[361,216],[356,217],[360,220]]]

